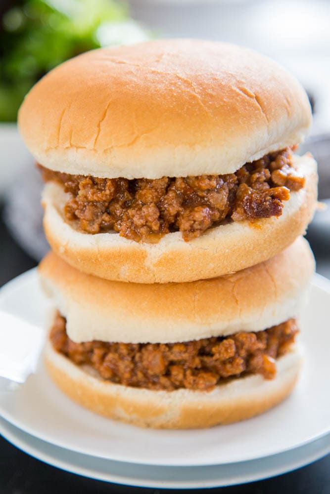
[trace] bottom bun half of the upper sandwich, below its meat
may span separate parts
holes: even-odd
[[[134,242],[114,232],[80,232],[64,218],[69,195],[48,183],[43,194],[47,240],[72,266],[108,280],[180,283],[233,273],[269,259],[305,232],[316,207],[317,167],[310,155],[295,157],[294,163],[306,184],[291,192],[281,216],[227,223],[189,242],[181,232],[164,235],[158,244]]]

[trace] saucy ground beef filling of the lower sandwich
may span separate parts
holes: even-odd
[[[185,343],[74,343],[65,326],[65,318],[57,313],[50,341],[75,364],[90,365],[114,383],[167,391],[211,390],[248,373],[272,379],[275,359],[288,351],[298,332],[296,321],[289,319],[264,331]]]

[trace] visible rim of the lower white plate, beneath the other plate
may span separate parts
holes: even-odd
[[[229,465],[170,467],[111,461],[41,441],[0,419],[0,433],[19,449],[50,465],[85,477],[129,486],[191,489],[262,480],[295,470],[330,453],[330,435],[286,453]]]

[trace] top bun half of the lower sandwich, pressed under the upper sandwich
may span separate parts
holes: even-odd
[[[314,268],[308,242],[300,237],[264,263],[191,283],[102,280],[52,252],[39,275],[73,341],[169,343],[264,330],[299,316]]]

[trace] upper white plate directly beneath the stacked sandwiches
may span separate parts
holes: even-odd
[[[81,408],[52,384],[40,363],[22,385],[0,380],[0,414],[54,445],[148,465],[219,465],[282,453],[330,431],[330,282],[315,277],[302,318],[306,362],[293,394],[259,417],[205,430],[140,429]],[[0,291],[0,307],[35,324],[47,303],[32,270]]]

